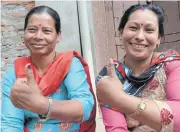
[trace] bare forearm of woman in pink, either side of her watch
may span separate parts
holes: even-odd
[[[114,102],[114,107],[122,111],[125,114],[131,114],[137,111],[138,105],[141,102],[140,98],[123,94],[118,102]],[[161,129],[161,117],[160,111],[156,103],[152,100],[146,100],[147,105],[145,110],[140,112],[137,116],[133,116],[134,119],[140,123],[150,126],[151,128],[160,131]]]

